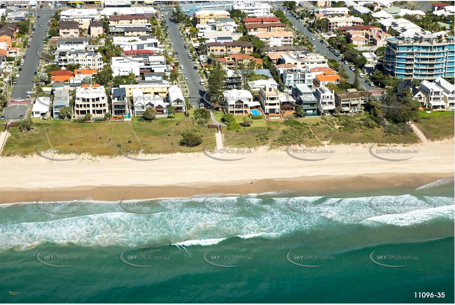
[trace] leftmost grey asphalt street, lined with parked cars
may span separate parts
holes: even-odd
[[[30,42],[30,47],[25,51],[24,65],[21,66],[22,71],[17,72],[20,77],[17,78],[17,84],[13,85],[11,99],[25,99],[27,91],[32,91],[33,89],[33,78],[35,77],[35,72],[37,72],[38,63],[40,62],[40,58],[37,54],[41,54],[43,46],[42,38],[46,36],[46,31],[49,28],[47,26],[47,20],[49,20],[53,14],[50,12],[41,12],[40,10],[38,10],[37,13],[40,18],[38,18],[38,23],[34,24],[37,27],[35,32],[31,34],[33,38]],[[39,27],[40,24],[42,25],[41,27]]]

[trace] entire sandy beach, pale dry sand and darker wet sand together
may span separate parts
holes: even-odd
[[[302,188],[315,193],[342,188],[360,191],[396,184],[418,187],[454,176],[453,140],[406,147],[371,146],[318,148],[327,153],[290,150],[290,154],[301,159],[293,158],[285,150],[269,151],[267,148],[241,155],[211,154],[226,159],[244,157],[235,161],[212,159],[202,152],[161,155],[162,159],[154,161],[124,156],[82,156],[70,161],[48,160],[39,155],[1,157],[0,202],[34,201],[51,194],[120,200],[124,197],[186,197],[199,193],[244,194]],[[390,148],[409,153],[379,151]]]

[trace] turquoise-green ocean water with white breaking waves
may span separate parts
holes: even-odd
[[[454,180],[6,204],[0,262],[1,303],[454,303]]]

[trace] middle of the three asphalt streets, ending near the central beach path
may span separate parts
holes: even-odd
[[[165,15],[166,24],[169,26],[169,38],[172,43],[172,48],[174,51],[177,51],[178,54],[175,55],[177,57],[177,61],[179,65],[183,65],[183,75],[188,76],[186,83],[188,85],[188,89],[190,90],[189,100],[192,105],[199,108],[200,103],[204,103],[203,97],[206,93],[206,88],[201,85],[199,82],[201,81],[201,77],[199,76],[198,70],[194,70],[195,63],[192,59],[190,59],[185,49],[185,41],[183,38],[179,36],[179,29],[178,26],[173,22],[172,18],[170,18],[170,12],[161,11],[162,14]]]

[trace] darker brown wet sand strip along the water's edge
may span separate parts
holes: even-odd
[[[305,196],[343,197],[356,192],[381,194],[382,191],[394,190],[408,193],[423,185],[443,178],[453,178],[454,173],[427,173],[415,176],[413,173],[383,173],[360,176],[303,176],[289,179],[264,179],[250,182],[228,184],[205,183],[200,185],[166,186],[79,186],[68,188],[0,188],[0,204],[41,201],[66,201],[91,198],[97,201],[119,201],[154,198],[187,198],[204,194],[247,195],[279,191],[298,191]],[[177,189],[178,188],[178,189]]]

